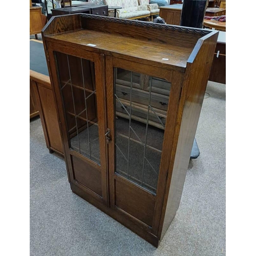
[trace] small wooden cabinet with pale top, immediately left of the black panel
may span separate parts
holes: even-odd
[[[166,5],[159,9],[159,16],[165,20],[166,24],[180,25],[182,4]]]

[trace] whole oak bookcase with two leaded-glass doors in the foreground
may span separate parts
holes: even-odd
[[[217,37],[87,14],[42,32],[72,191],[154,246],[179,207]]]

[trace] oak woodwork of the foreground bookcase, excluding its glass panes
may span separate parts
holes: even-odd
[[[71,189],[157,247],[179,207],[218,32],[87,14],[67,17],[52,19],[42,38],[57,102]],[[71,20],[74,24],[67,24]],[[62,71],[58,71],[56,52],[94,63],[97,100],[92,106],[97,104],[97,108],[92,113],[96,114],[97,109],[95,119],[99,128],[100,165],[70,148],[70,127],[63,109],[65,103],[69,104],[70,93],[65,96],[65,102],[58,75],[62,72],[63,80],[67,80],[65,74],[70,73],[72,68],[68,70],[63,59],[59,65]],[[163,60],[166,56],[168,60]],[[144,98],[148,95],[150,76],[171,83],[168,89],[164,86],[157,89],[157,93],[164,92],[164,96],[153,92],[153,108],[165,123],[162,153],[159,149],[157,151],[161,153],[161,161],[157,189],[154,191],[142,186],[143,182],[138,183],[137,178],[129,180],[129,175],[127,178],[116,170],[115,120],[118,115],[127,118],[124,116],[127,113],[122,111],[122,105],[120,110],[118,104],[115,109],[115,68],[141,74],[136,78],[133,92],[141,90]],[[75,61],[73,69],[75,84],[72,87],[76,88],[75,97],[78,98],[74,105],[77,104],[77,109],[82,110],[84,106],[79,100],[81,70]],[[90,70],[89,66],[87,70]],[[120,90],[125,91],[129,87],[129,83],[120,77],[117,81],[120,82],[117,86],[119,95],[122,93]],[[94,84],[90,83],[90,86],[94,87]],[[121,102],[127,108],[132,105],[136,110],[131,115],[132,119],[143,123],[146,120],[145,99],[140,99],[135,93],[135,101],[129,105],[125,93],[129,92],[119,95]],[[166,104],[157,109],[160,98]],[[68,114],[75,116],[72,109]],[[148,123],[153,122],[150,118],[153,119],[153,116],[149,114]],[[82,116],[80,119],[85,118]],[[132,140],[135,141],[134,138]]]

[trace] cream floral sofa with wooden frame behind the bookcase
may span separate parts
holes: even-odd
[[[117,18],[138,19],[150,17],[151,12],[147,5],[139,5],[138,0],[103,0],[105,5],[120,6],[116,12]],[[114,17],[114,10],[109,9],[109,16]]]

